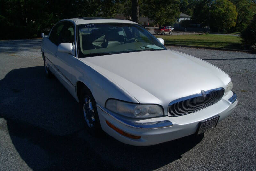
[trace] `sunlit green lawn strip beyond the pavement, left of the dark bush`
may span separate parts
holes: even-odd
[[[241,38],[231,35],[172,35],[161,36],[166,44],[243,49]]]

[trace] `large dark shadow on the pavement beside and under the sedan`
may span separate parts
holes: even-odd
[[[204,137],[135,147],[107,134],[90,136],[76,100],[56,78],[45,77],[43,66],[12,70],[0,87],[0,117],[33,170],[153,170],[181,158]]]

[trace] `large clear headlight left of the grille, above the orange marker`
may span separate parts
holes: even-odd
[[[154,104],[137,104],[109,99],[105,107],[112,112],[131,118],[149,118],[164,115],[162,107]]]

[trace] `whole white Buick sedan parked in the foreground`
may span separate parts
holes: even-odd
[[[200,134],[237,104],[230,77],[204,60],[167,50],[139,24],[109,18],[58,22],[43,35],[47,76],[79,102],[91,134],[147,146]]]

